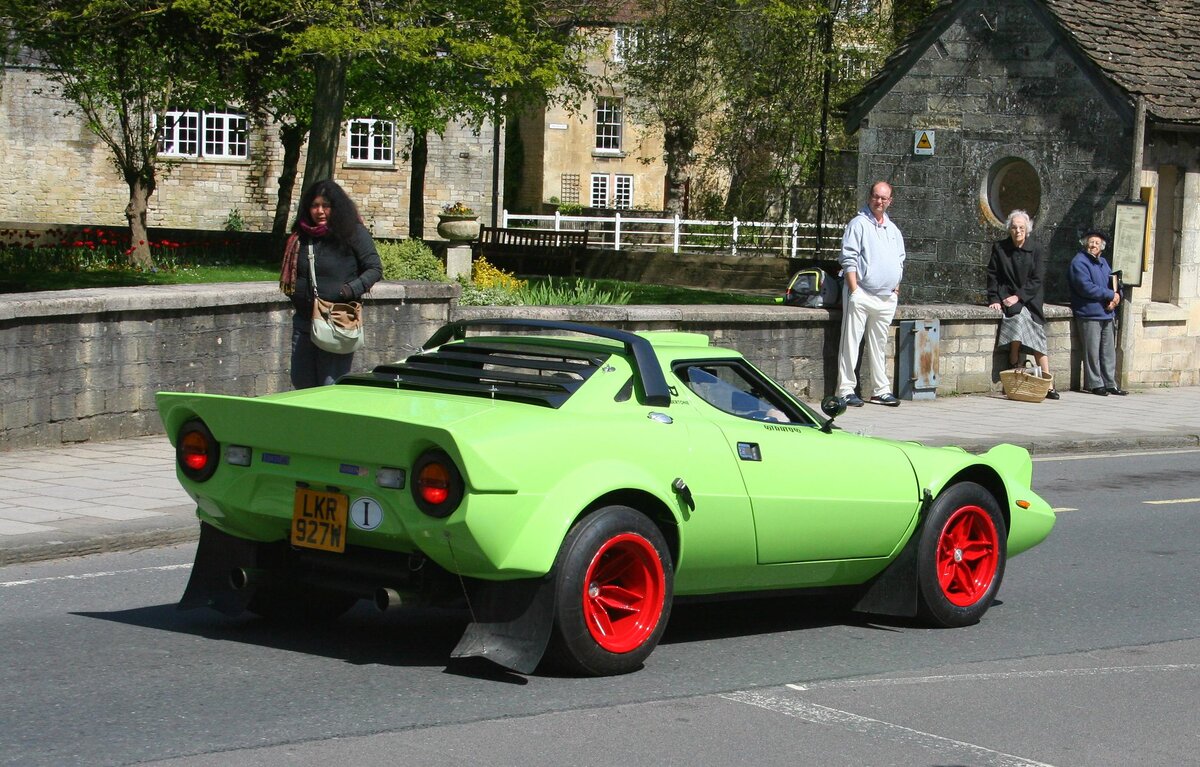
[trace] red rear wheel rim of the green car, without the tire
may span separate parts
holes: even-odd
[[[637,649],[662,617],[662,563],[650,541],[634,533],[600,547],[583,581],[583,617],[592,639],[611,653]]]

